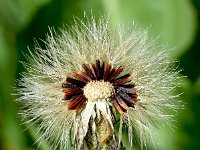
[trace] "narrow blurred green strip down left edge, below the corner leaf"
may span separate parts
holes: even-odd
[[[15,75],[16,52],[13,51],[13,35],[5,31],[6,27],[0,26],[0,126],[2,136],[2,149],[21,150],[24,149],[23,133],[19,127],[17,111],[11,97],[11,88]]]

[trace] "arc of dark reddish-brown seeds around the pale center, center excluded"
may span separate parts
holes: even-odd
[[[83,88],[90,82],[102,81],[109,82],[114,93],[111,96],[111,102],[120,112],[126,112],[129,107],[134,107],[137,103],[137,93],[135,85],[131,82],[130,74],[119,76],[124,66],[117,69],[112,68],[111,64],[105,64],[96,60],[96,64],[83,64],[83,71],[80,73],[71,72],[71,77],[66,78],[66,82],[62,84],[64,91],[63,100],[68,100],[67,108],[69,110],[79,111],[87,102]]]

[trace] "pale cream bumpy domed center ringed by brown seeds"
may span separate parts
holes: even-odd
[[[114,94],[114,87],[110,82],[92,81],[83,88],[85,97],[92,101],[101,101],[111,98]]]

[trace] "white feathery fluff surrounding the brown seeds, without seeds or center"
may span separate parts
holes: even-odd
[[[145,30],[123,26],[114,30],[105,18],[97,22],[76,19],[74,26],[61,30],[59,35],[50,30],[45,44],[46,49],[37,45],[27,57],[30,62],[24,63],[27,71],[18,81],[18,101],[24,106],[20,112],[22,118],[38,124],[41,138],[54,148],[60,145],[60,149],[70,149],[72,141],[79,149],[88,132],[89,120],[93,118],[95,122],[94,118],[100,114],[107,119],[111,130],[120,130],[120,140],[124,132],[122,125],[126,124],[129,149],[134,137],[143,149],[151,140],[152,127],[169,124],[172,116],[165,110],[177,107],[173,102],[176,95],[172,92],[177,86],[178,71],[172,68],[167,49],[157,46],[156,40],[148,40]],[[88,100],[81,112],[68,110],[62,101],[61,85],[66,76],[80,72],[83,63],[97,59],[114,67],[126,66],[124,73],[130,73],[136,85],[140,101],[135,108],[121,115],[114,113],[121,118],[119,129],[114,128],[110,110],[113,106],[108,100]],[[95,124],[93,127],[95,131]]]

